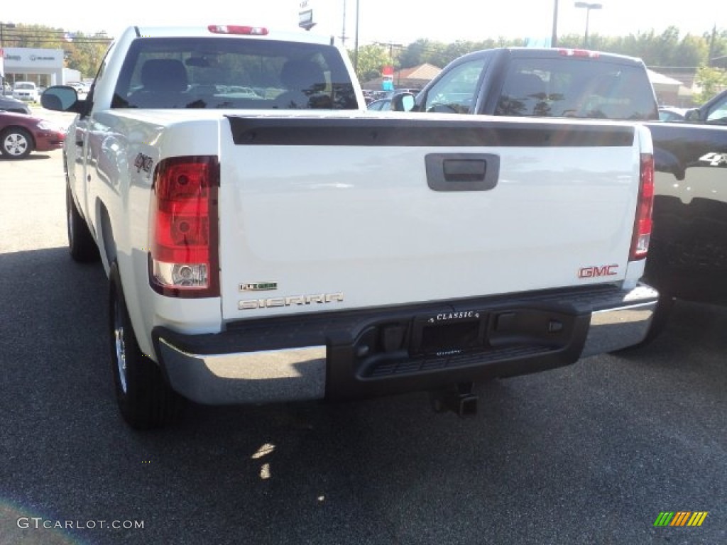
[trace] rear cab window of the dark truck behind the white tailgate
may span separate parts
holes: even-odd
[[[513,58],[495,114],[636,121],[659,118],[643,65],[566,56]]]

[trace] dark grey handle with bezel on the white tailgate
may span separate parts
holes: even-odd
[[[499,156],[492,153],[429,153],[425,164],[435,191],[488,191],[499,177]]]

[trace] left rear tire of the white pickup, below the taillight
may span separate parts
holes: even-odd
[[[134,429],[164,427],[177,420],[185,399],[172,390],[156,362],[140,350],[116,262],[109,279],[111,366],[121,416]]]

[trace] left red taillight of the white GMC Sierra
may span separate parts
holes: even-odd
[[[149,225],[149,282],[174,297],[220,295],[214,156],[173,157],[154,174]]]

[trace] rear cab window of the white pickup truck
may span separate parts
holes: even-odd
[[[111,108],[358,108],[340,52],[325,44],[140,38],[121,68]]]

